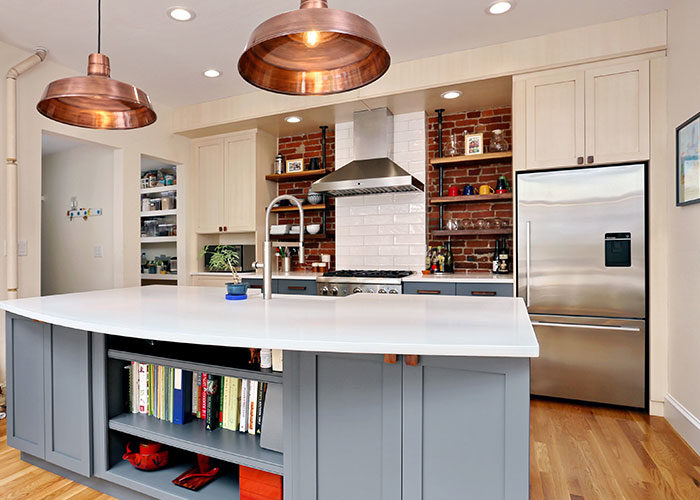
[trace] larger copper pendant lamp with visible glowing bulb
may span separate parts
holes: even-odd
[[[372,23],[329,9],[327,0],[301,0],[299,10],[255,28],[238,71],[271,92],[324,95],[372,83],[386,73],[390,61]]]

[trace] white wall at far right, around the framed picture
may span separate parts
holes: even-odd
[[[700,111],[700,2],[669,9],[669,200],[675,200],[675,128]],[[700,204],[668,205],[669,396],[666,415],[700,453]]]

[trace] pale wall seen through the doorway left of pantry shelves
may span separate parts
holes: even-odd
[[[41,294],[113,288],[114,151],[85,145],[43,156],[41,183]],[[103,215],[70,220],[73,196]]]

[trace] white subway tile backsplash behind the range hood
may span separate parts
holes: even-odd
[[[335,164],[353,160],[352,122],[335,124]],[[392,159],[425,183],[426,116],[394,116]],[[425,265],[425,193],[389,193],[336,199],[338,269],[409,269]]]

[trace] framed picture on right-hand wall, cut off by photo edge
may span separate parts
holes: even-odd
[[[676,206],[700,203],[700,113],[676,129]]]

